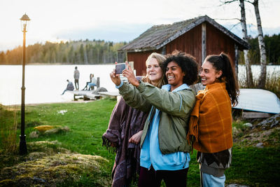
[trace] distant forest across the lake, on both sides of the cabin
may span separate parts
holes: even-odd
[[[267,64],[280,65],[280,34],[264,37]],[[251,48],[248,50],[250,64],[260,64],[260,48],[258,37],[248,37]],[[62,63],[62,64],[106,64],[123,62],[118,59],[118,48],[126,42],[113,43],[111,41],[85,40],[49,41],[27,46],[27,64],[31,63]],[[244,64],[244,55],[239,55],[239,64]],[[0,53],[0,64],[22,64],[22,46]]]

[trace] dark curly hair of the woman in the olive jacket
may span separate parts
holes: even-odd
[[[195,57],[179,50],[174,50],[171,55],[167,55],[167,60],[163,62],[165,69],[167,69],[169,62],[175,62],[181,67],[182,71],[185,73],[185,76],[183,76],[183,83],[193,85],[197,82],[198,64]]]

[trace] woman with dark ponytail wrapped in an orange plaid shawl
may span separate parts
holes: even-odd
[[[197,93],[188,140],[197,149],[201,186],[225,186],[232,158],[232,105],[239,94],[230,57],[207,56],[200,77],[206,88]]]

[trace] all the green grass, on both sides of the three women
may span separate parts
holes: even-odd
[[[100,180],[111,179],[111,169],[115,155],[109,153],[102,146],[102,134],[106,131],[116,100],[102,99],[95,102],[71,103],[71,104],[38,104],[36,106],[26,106],[25,124],[27,134],[27,148],[29,153],[45,152],[48,154],[72,153],[83,155],[100,155],[109,162],[102,162],[102,171],[94,172],[90,169],[76,169],[78,177],[69,177],[57,183],[57,186],[100,186]],[[59,111],[65,110],[62,115]],[[13,131],[17,127],[15,136],[15,146],[19,144],[20,135],[20,111],[6,110],[0,106],[0,169],[20,163],[25,163],[29,157],[18,156],[18,147],[14,151],[7,151],[9,137],[13,137]],[[242,129],[241,123],[237,122],[233,126]],[[3,124],[3,125],[2,125]],[[60,125],[69,127],[68,132],[58,134],[39,134],[38,138],[31,138],[29,134],[34,131],[37,125]],[[244,131],[244,130],[243,130]],[[279,133],[272,134],[279,137]],[[13,138],[12,138],[13,139]],[[56,142],[38,146],[33,144],[38,141]],[[275,146],[265,148],[255,148],[252,146],[233,147],[232,165],[225,172],[226,183],[239,183],[249,186],[277,186],[280,182],[280,148]],[[196,151],[191,154],[190,167],[188,170],[188,186],[200,186],[200,172],[195,160]],[[39,156],[39,155],[38,155]],[[76,174],[76,173],[75,173]],[[77,175],[77,174],[76,174]],[[75,175],[75,176],[76,176]],[[1,174],[0,174],[1,181]],[[0,184],[1,186],[1,184]],[[109,185],[110,186],[110,185]],[[135,186],[135,183],[134,185]]]

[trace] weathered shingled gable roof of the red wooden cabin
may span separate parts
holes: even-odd
[[[214,25],[214,27],[228,35],[236,43],[243,46],[243,48],[248,49],[250,47],[246,41],[240,39],[238,36],[218,24],[215,20],[209,18],[207,15],[204,15],[190,20],[174,22],[169,25],[154,25],[137,37],[137,39],[134,39],[130,43],[127,43],[127,45],[120,48],[119,51],[125,50],[127,52],[140,52],[146,50],[158,50],[167,43],[185,34],[190,29],[200,25],[202,22],[209,22],[211,25]]]

